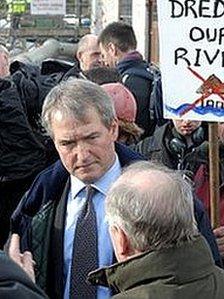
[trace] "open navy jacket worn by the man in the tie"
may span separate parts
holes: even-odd
[[[121,144],[116,144],[116,152],[122,167],[143,159]],[[37,176],[12,216],[12,231],[20,235],[22,251],[31,250],[34,255],[37,284],[52,298],[63,296],[63,215],[68,179],[69,173],[57,161]]]

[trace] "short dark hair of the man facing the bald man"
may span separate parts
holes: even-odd
[[[137,41],[132,26],[122,23],[113,22],[105,27],[98,38],[98,43],[106,47],[109,43],[113,43],[122,52],[135,50]]]

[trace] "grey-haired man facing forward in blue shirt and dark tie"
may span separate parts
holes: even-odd
[[[42,119],[60,161],[38,175],[13,215],[12,232],[21,236],[22,252],[29,249],[34,256],[37,284],[52,298],[75,297],[73,277],[79,276],[89,260],[95,260],[95,253],[88,258],[93,247],[96,247],[97,261],[85,273],[113,262],[113,248],[104,219],[105,194],[122,167],[141,156],[125,146],[115,145],[118,121],[113,104],[94,83],[72,79],[53,88],[44,102]],[[86,206],[86,185],[94,189],[92,227],[97,230],[97,244],[91,245],[91,250],[88,242],[77,249],[82,241],[91,239],[87,236],[92,220],[85,223],[86,231],[81,238],[79,233],[84,210],[92,209]],[[77,252],[80,252],[78,261],[83,259],[83,263],[78,270],[75,262],[73,272]],[[78,277],[75,289],[81,288],[80,281]],[[88,288],[84,285],[83,292]],[[91,298],[107,298],[110,293],[109,289],[98,287]],[[76,296],[90,298],[84,293]]]

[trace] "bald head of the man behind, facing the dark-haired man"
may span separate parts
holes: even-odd
[[[82,71],[88,71],[93,67],[100,66],[100,49],[97,36],[94,34],[83,36],[79,41],[76,56]]]

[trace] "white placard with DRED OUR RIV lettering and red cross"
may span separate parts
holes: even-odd
[[[165,118],[223,121],[224,1],[157,0]]]

